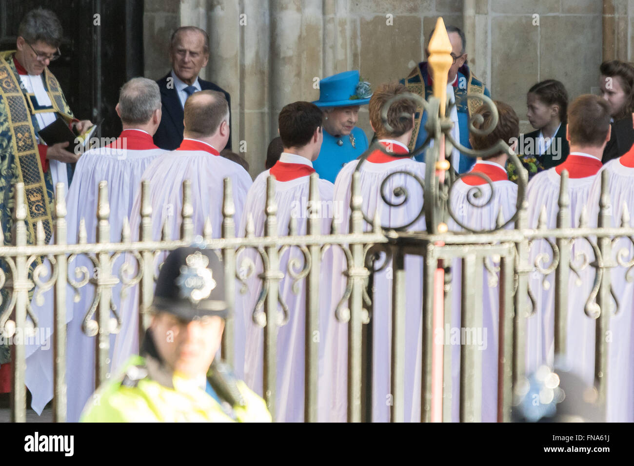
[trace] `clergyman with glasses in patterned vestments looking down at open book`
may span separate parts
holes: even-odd
[[[31,10],[18,27],[16,50],[0,51],[0,222],[4,244],[11,244],[13,195],[16,183],[23,182],[27,203],[27,232],[35,243],[37,223],[42,222],[46,242],[53,231],[55,184],[68,182],[77,161],[68,142],[46,145],[42,128],[63,119],[77,134],[93,126],[75,119],[61,91],[60,83],[48,69],[60,56],[61,24],[53,11]],[[1,264],[10,273],[6,264]],[[2,290],[0,311],[10,299]],[[0,389],[8,377],[8,346],[0,345]]]

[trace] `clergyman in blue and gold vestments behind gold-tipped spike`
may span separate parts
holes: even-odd
[[[447,75],[447,101],[460,100],[465,94],[484,94],[491,97],[489,89],[484,82],[479,81],[467,66],[466,39],[465,33],[458,27],[448,25],[446,27],[449,41],[451,42],[451,59],[453,63],[449,68]],[[434,30],[429,34],[429,40],[434,34]],[[428,40],[428,42],[429,42]],[[429,57],[429,49],[425,48],[425,55]],[[401,80],[408,88],[408,91],[420,95],[427,100],[432,94],[432,70],[427,65],[427,61],[421,61],[411,70],[406,79]],[[480,101],[472,99],[467,105],[467,101],[462,101],[455,105],[451,113],[447,115],[453,121],[452,137],[460,145],[471,148],[469,143],[469,116],[477,110],[481,105]],[[427,131],[425,131],[425,122],[427,121],[427,113],[418,109],[414,115],[414,132],[410,141],[410,152],[414,148],[420,147],[427,139]],[[424,155],[418,155],[416,159],[424,162]],[[475,164],[475,159],[460,153],[456,148],[453,149],[450,157],[451,167],[458,173],[467,172]]]

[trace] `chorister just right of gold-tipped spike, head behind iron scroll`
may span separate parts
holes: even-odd
[[[519,119],[514,110],[507,104],[495,101],[498,108],[498,126],[486,136],[470,134],[471,146],[475,150],[484,150],[495,145],[502,139],[511,143],[515,150],[519,134]],[[477,110],[484,119],[481,127],[489,127],[493,115],[487,107]],[[478,159],[469,174],[456,180],[451,188],[451,207],[456,219],[470,230],[493,230],[501,212],[504,222],[514,216],[517,204],[517,185],[508,181],[504,166],[507,162],[506,153],[498,153],[486,159]],[[492,187],[482,178],[491,179]],[[486,202],[491,199],[489,204]],[[485,205],[486,204],[486,205]],[[451,231],[463,231],[463,227],[455,219],[450,219],[448,227]],[[508,225],[507,228],[512,228]],[[460,309],[462,298],[462,262],[453,261],[453,280],[451,297],[453,314],[452,328],[461,328]],[[482,422],[495,422],[497,413],[497,383],[498,383],[498,325],[499,325],[499,288],[489,286],[489,274],[482,268],[482,330],[481,338],[476,341],[465,341],[462,344],[477,344],[482,351]],[[462,332],[461,332],[462,333]],[[445,342],[446,344],[447,342]],[[451,346],[451,418],[454,422],[459,419],[460,406],[460,345]]]

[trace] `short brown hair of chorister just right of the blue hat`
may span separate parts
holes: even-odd
[[[404,84],[399,82],[387,82],[381,84],[375,89],[370,98],[370,123],[377,133],[377,138],[387,138],[402,136],[404,133],[410,131],[413,126],[413,119],[411,115],[416,112],[416,102],[411,99],[400,99],[394,101],[387,110],[387,122],[392,127],[392,131],[387,131],[381,118],[381,112],[385,103],[398,94],[407,92],[407,88]],[[409,116],[406,116],[409,115]]]

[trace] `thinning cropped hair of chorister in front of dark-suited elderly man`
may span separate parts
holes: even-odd
[[[224,119],[229,104],[220,91],[198,91],[185,101],[185,131],[198,138],[212,136]]]

